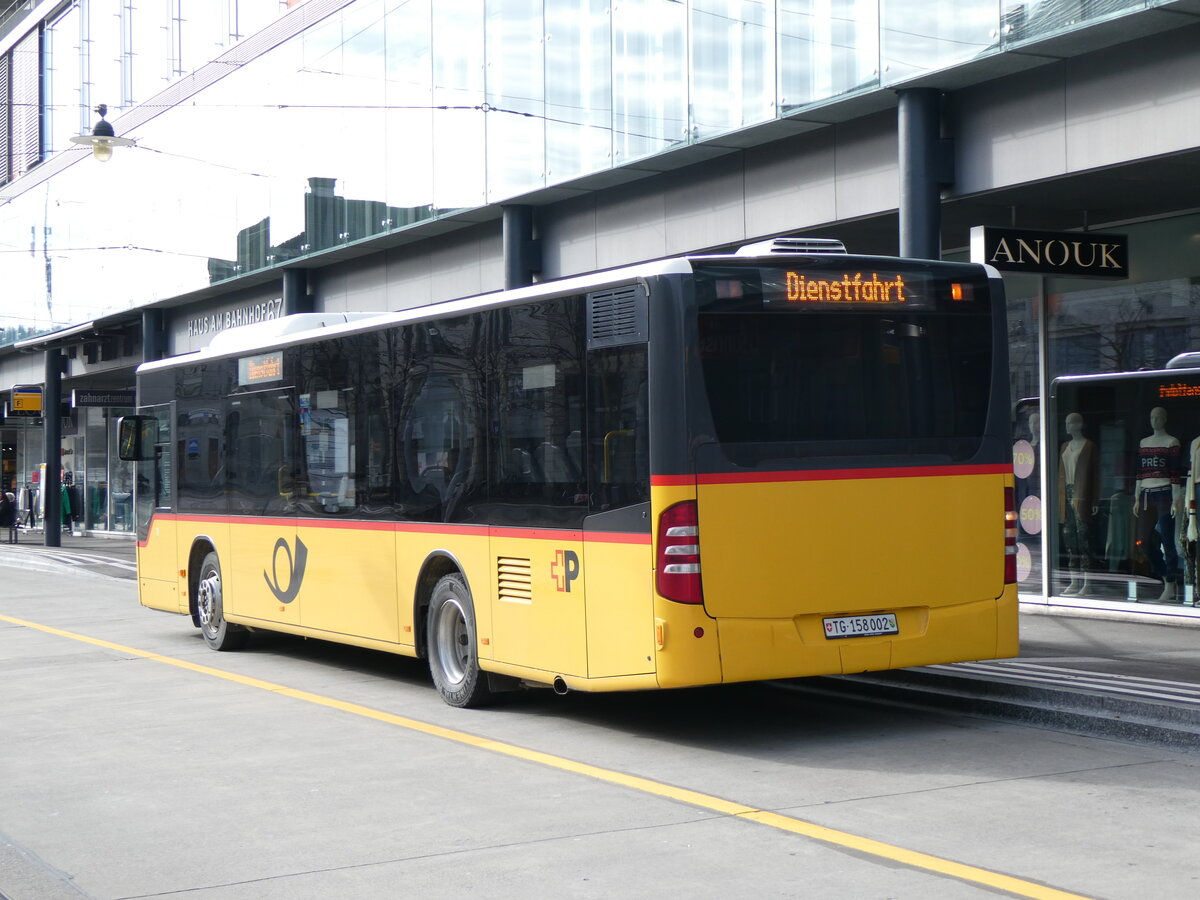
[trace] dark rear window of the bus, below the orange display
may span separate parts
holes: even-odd
[[[812,281],[834,283],[820,274]],[[974,456],[991,386],[991,320],[986,282],[956,283],[970,307],[949,287],[920,310],[814,302],[804,314],[752,289],[702,295],[701,370],[722,456],[822,468]]]

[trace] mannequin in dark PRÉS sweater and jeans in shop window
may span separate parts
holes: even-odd
[[[1138,517],[1138,542],[1150,559],[1150,571],[1163,580],[1160,604],[1175,601],[1180,557],[1175,550],[1175,521],[1183,517],[1183,450],[1180,439],[1166,433],[1166,410],[1150,410],[1152,433],[1138,450],[1138,482],[1133,514]]]

